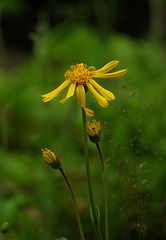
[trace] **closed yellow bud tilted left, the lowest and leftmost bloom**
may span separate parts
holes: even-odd
[[[54,152],[47,148],[45,148],[45,150],[41,150],[43,152],[43,157],[48,165],[55,169],[59,169],[61,167],[62,161]]]

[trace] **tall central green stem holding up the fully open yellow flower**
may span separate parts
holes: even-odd
[[[96,213],[96,206],[95,206],[94,197],[93,197],[93,191],[92,191],[91,174],[90,174],[90,166],[89,166],[88,139],[87,139],[87,132],[86,132],[86,114],[85,114],[85,111],[84,111],[83,108],[82,108],[82,122],[83,122],[86,174],[87,174],[87,181],[88,181],[90,205],[91,205],[91,209],[92,209],[94,228],[95,228],[97,240],[102,240],[100,227],[99,227],[99,221],[97,219],[97,213]]]

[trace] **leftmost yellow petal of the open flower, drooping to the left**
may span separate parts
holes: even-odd
[[[53,90],[52,92],[46,93],[44,95],[41,95],[44,99],[42,99],[43,102],[49,102],[53,98],[56,98],[59,93],[70,84],[70,80],[65,80],[58,88]]]

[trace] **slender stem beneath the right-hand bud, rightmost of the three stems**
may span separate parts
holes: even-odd
[[[109,232],[108,232],[108,190],[107,190],[107,178],[106,178],[106,172],[105,172],[105,164],[103,160],[103,155],[101,152],[101,148],[99,143],[96,143],[96,147],[99,153],[101,166],[103,170],[103,181],[104,181],[104,201],[105,201],[105,239],[109,239]]]

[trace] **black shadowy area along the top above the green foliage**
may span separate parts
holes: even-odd
[[[11,12],[9,14],[4,12],[3,14],[2,9],[2,33],[7,47],[27,52],[32,50],[32,41],[28,39],[28,34],[35,31],[41,15],[48,19],[50,27],[67,23],[68,21],[75,21],[77,24],[84,23],[101,30],[101,32],[105,31],[104,33],[116,31],[135,38],[146,37],[151,24],[150,2],[152,1],[147,0],[105,0],[102,1],[102,6],[100,6],[101,3],[99,1],[87,0],[84,2],[54,0],[24,0],[20,2],[21,6],[18,13]],[[66,10],[65,6],[68,5],[73,8],[73,16],[70,16]],[[85,6],[83,10],[86,17],[83,16],[84,13],[80,14],[82,5]],[[97,5],[102,8],[99,9]],[[100,26],[99,18],[106,22],[106,26]]]

